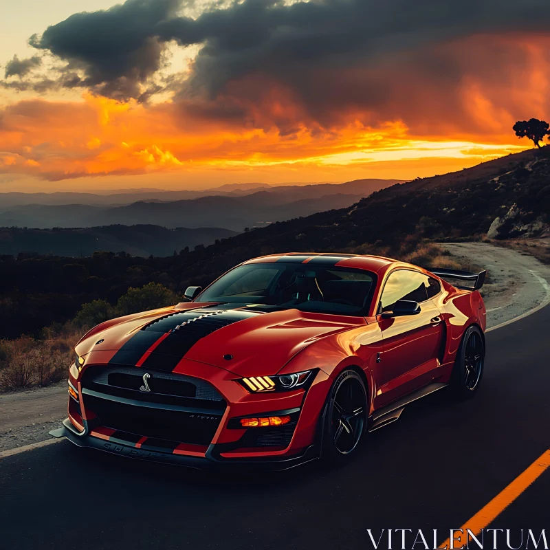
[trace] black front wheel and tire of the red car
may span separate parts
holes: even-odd
[[[321,455],[324,461],[349,460],[366,432],[367,404],[362,377],[351,369],[340,373],[327,396]]]

